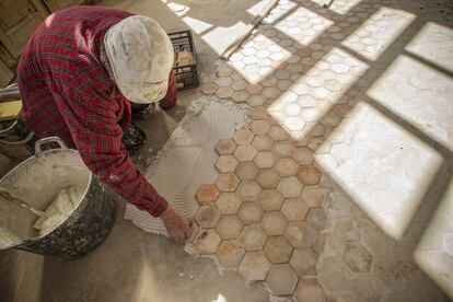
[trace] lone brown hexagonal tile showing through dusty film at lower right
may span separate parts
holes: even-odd
[[[359,242],[347,242],[342,262],[353,272],[370,271],[373,257]]]

